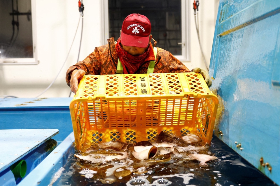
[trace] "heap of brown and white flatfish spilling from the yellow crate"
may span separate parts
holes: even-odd
[[[201,143],[198,143],[200,141],[199,136],[195,134],[178,137],[171,132],[161,131],[151,141],[109,141],[93,144],[95,146],[74,154],[74,157],[85,161],[77,162],[81,167],[97,171],[93,174],[94,179],[98,178],[102,183],[113,183],[132,174],[150,172],[150,165],[169,163],[173,160],[197,160],[199,166],[208,166],[206,162],[217,157],[207,155],[209,147],[201,146]]]

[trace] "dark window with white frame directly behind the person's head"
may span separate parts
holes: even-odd
[[[132,13],[150,19],[156,46],[170,51],[181,61],[189,61],[188,15],[185,0],[104,1],[104,39],[120,36],[122,22]],[[108,36],[108,37],[105,37]]]

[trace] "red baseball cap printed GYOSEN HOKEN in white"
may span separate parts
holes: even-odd
[[[125,46],[145,48],[149,44],[151,30],[151,22],[146,16],[130,14],[122,23],[121,43]]]

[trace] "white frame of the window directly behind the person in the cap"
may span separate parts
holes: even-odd
[[[187,0],[181,0],[181,24],[182,24],[182,55],[175,55],[181,62],[190,61],[190,16],[188,14],[189,3]],[[107,44],[109,37],[109,12],[108,12],[108,0],[104,0],[101,3],[101,21],[102,21],[102,44]],[[121,29],[121,28],[120,28]],[[104,43],[103,43],[104,42]]]

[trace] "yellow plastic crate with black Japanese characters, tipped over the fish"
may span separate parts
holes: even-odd
[[[161,131],[210,144],[218,103],[200,73],[85,75],[70,103],[76,148],[153,141]]]

